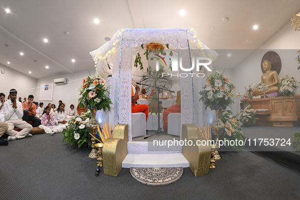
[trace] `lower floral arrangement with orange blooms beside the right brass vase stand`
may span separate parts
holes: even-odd
[[[232,149],[239,149],[242,148],[243,146],[236,145],[230,145],[231,140],[242,140],[244,143],[244,136],[243,136],[243,129],[241,128],[242,122],[237,119],[238,115],[232,116],[231,111],[225,111],[222,113],[221,120],[225,124],[225,129],[223,130],[220,140],[227,140],[229,143],[225,142],[225,146],[227,148],[232,148]]]

